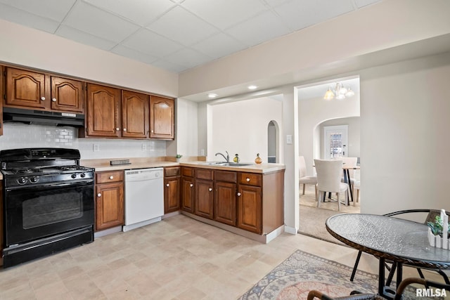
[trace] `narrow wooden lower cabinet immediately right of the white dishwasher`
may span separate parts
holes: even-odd
[[[180,167],[164,169],[164,214],[180,209]]]

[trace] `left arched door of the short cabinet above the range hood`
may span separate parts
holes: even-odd
[[[45,95],[45,75],[6,68],[6,105],[23,108],[50,107]]]

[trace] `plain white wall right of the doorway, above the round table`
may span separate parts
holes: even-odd
[[[450,53],[361,79],[361,212],[450,210]]]

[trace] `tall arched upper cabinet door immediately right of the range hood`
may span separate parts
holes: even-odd
[[[120,89],[87,84],[86,135],[119,137]]]

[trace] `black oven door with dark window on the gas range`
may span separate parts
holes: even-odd
[[[5,191],[6,246],[94,224],[94,184]]]

